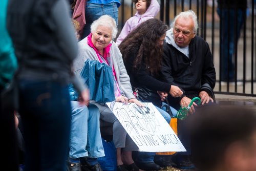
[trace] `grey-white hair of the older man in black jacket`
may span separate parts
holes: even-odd
[[[188,10],[188,11],[180,12],[178,15],[175,16],[172,25],[170,25],[170,28],[174,28],[175,23],[176,23],[176,20],[177,20],[179,17],[183,17],[183,18],[185,18],[185,19],[187,19],[187,18],[192,18],[193,21],[194,21],[194,28],[193,28],[193,31],[194,31],[195,34],[197,34],[198,22],[197,22],[197,15],[195,14],[194,11]]]

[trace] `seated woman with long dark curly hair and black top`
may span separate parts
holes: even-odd
[[[173,97],[180,97],[183,92],[177,86],[160,81],[166,31],[167,26],[161,20],[148,19],[127,35],[119,49],[133,90],[138,90],[140,101],[152,102],[169,123],[170,116],[160,109],[161,100],[164,100],[168,93]],[[158,94],[158,91],[165,93]],[[141,169],[160,169],[159,165],[154,163],[154,155],[146,153],[140,158],[138,166]]]

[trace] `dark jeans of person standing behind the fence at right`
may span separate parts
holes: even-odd
[[[238,43],[240,31],[243,26],[243,13],[241,9],[217,9],[221,19],[221,81],[234,81],[234,47]],[[237,15],[237,16],[236,16]],[[237,21],[237,33],[235,37]]]

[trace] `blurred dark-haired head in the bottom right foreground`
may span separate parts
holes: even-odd
[[[256,170],[256,113],[206,106],[189,120],[192,159],[200,171]]]

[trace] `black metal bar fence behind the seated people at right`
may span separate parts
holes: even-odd
[[[119,31],[126,20],[136,12],[132,0],[122,0],[120,2],[122,5],[119,7]],[[228,12],[227,18],[230,21],[233,20],[232,24],[223,26],[228,21],[224,21],[223,18],[219,17],[224,12],[220,10],[218,15],[218,3],[216,0],[158,0],[158,2],[160,4],[160,12],[156,18],[163,20],[167,25],[170,25],[174,16],[182,11],[191,9],[197,14],[199,22],[197,34],[208,42],[214,57],[217,73],[216,93],[256,96],[255,0],[247,0],[247,9],[243,11],[243,25],[240,36],[237,34],[233,35],[234,39],[238,38],[238,41],[233,45],[234,50],[233,55],[230,57],[231,59],[226,57],[225,60],[223,59],[225,54],[222,51],[227,49],[228,53],[231,47],[224,47],[224,39],[220,35],[224,33],[223,28],[227,27],[226,39],[229,43],[232,36],[232,34],[231,36],[229,35],[229,32],[233,27],[235,28],[234,33],[238,31],[238,19],[232,19],[231,14]],[[234,9],[236,13],[235,18],[238,18],[238,10],[237,7]],[[232,65],[226,60],[232,60]],[[227,69],[230,69],[232,66],[234,67],[234,77],[232,79],[228,77],[227,80],[221,81],[223,80],[223,74],[221,74],[223,67],[220,66],[226,65],[226,63]]]

